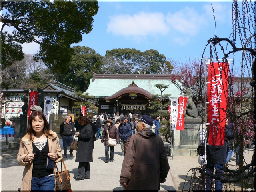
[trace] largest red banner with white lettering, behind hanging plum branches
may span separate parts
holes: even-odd
[[[227,63],[211,63],[209,65],[208,90],[208,123],[209,145],[223,146],[225,142],[225,124],[228,96]]]

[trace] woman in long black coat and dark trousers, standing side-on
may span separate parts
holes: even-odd
[[[78,123],[82,125],[81,130],[77,132],[78,149],[75,162],[79,162],[78,176],[75,180],[90,179],[90,162],[92,162],[93,149],[93,131],[90,125],[90,119],[85,116],[78,118]]]

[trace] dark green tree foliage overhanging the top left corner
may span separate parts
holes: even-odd
[[[99,9],[97,1],[1,1],[4,26],[1,30],[2,64],[22,60],[22,44],[36,42],[40,50],[35,55],[56,72],[66,72],[72,58],[71,44],[82,41],[82,34],[92,31],[93,16]]]

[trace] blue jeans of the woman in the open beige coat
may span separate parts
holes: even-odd
[[[32,177],[32,191],[54,191],[54,187],[54,175],[49,175],[46,177]]]

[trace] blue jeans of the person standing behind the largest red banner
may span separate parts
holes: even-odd
[[[214,165],[210,165],[207,164],[207,168],[206,168],[206,172],[213,174],[213,170],[215,168],[215,174],[222,174],[223,171],[220,170],[221,168],[223,168],[223,165],[219,165],[219,164],[214,164]],[[206,190],[212,190],[212,178],[210,178],[209,176],[206,176]],[[222,191],[222,182],[220,182],[220,180],[215,180],[215,191]]]

